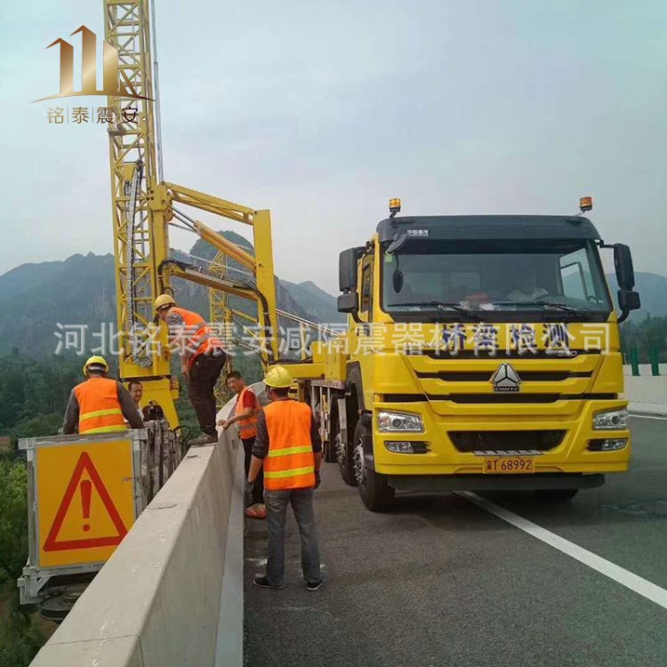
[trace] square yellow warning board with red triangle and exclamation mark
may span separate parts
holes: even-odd
[[[133,525],[129,439],[40,447],[36,481],[41,567],[104,562]]]

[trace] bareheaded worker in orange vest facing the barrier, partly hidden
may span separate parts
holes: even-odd
[[[225,378],[229,390],[237,395],[234,414],[227,420],[221,420],[218,425],[224,430],[232,424],[238,425],[238,436],[243,443],[245,453],[245,477],[250,470],[250,460],[253,454],[253,445],[257,436],[257,415],[261,413],[261,404],[250,387],[245,385],[243,375],[238,371],[230,371]],[[251,504],[245,508],[245,516],[250,518],[265,518],[264,507],[264,475],[260,469],[254,480],[253,494],[249,499]]]

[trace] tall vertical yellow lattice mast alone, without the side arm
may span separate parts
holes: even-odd
[[[123,380],[148,381],[150,398],[163,406],[170,423],[178,424],[169,358],[156,354],[146,344],[153,321],[153,300],[160,287],[169,286],[157,285],[157,268],[167,258],[169,246],[166,207],[156,206],[157,192],[162,197],[166,193],[157,183],[147,10],[142,0],[104,3],[105,40],[118,51],[118,81],[138,96],[108,98],[115,119],[108,132],[108,145],[119,365]],[[164,345],[164,338],[161,343]],[[157,345],[153,347],[157,349]]]

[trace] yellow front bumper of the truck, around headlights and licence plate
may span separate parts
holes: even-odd
[[[560,405],[562,404],[562,405]],[[379,404],[374,406],[373,451],[374,470],[392,478],[446,476],[470,478],[494,478],[483,474],[486,456],[514,455],[534,456],[534,473],[528,477],[548,479],[560,476],[604,475],[628,470],[631,457],[631,434],[629,430],[593,430],[593,415],[604,410],[617,410],[627,406],[627,401],[619,399],[590,401],[561,401],[559,414],[555,405],[551,406],[483,406],[483,414],[438,414],[427,402]],[[503,414],[515,408],[515,414]],[[519,412],[522,410],[522,412]],[[444,408],[443,408],[444,409]],[[421,433],[388,433],[377,429],[376,414],[380,410],[418,414],[422,417],[424,429]],[[525,411],[525,412],[524,412]],[[554,414],[555,413],[555,414]],[[478,447],[478,451],[462,451],[462,446],[451,437],[453,433],[477,434],[485,432],[501,434],[510,431],[518,438],[510,451],[507,442],[495,446],[493,438]],[[533,445],[531,433],[542,431],[560,433],[559,444],[548,446],[543,451],[529,454],[526,450],[539,449]],[[591,441],[605,438],[626,440],[623,449],[615,451],[593,451]],[[422,443],[426,451],[420,454],[399,454],[388,450],[391,440],[416,441]],[[470,450],[470,447],[469,447]],[[487,451],[491,450],[491,451]],[[495,451],[497,450],[497,451]],[[524,475],[500,476],[506,486],[493,488],[516,488]],[[487,482],[485,482],[486,484]],[[536,484],[536,482],[534,482]],[[539,488],[540,486],[530,486]],[[468,488],[473,486],[456,486]],[[475,488],[492,488],[476,486]],[[556,486],[550,486],[556,488]],[[572,488],[572,486],[566,486]]]

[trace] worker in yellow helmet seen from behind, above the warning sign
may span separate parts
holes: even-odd
[[[85,382],[77,384],[69,395],[64,435],[79,433],[111,433],[129,428],[143,429],[143,421],[130,392],[108,377],[108,364],[103,357],[91,357],[84,364]]]

